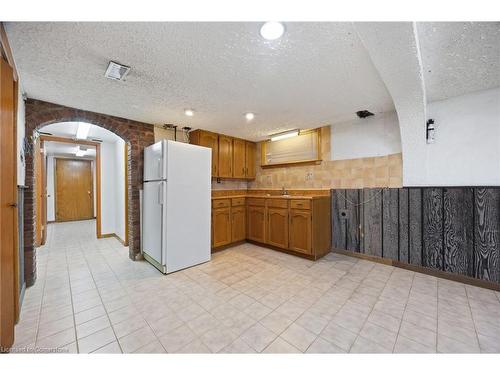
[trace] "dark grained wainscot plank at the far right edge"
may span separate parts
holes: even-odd
[[[474,189],[474,276],[500,282],[500,189]]]

